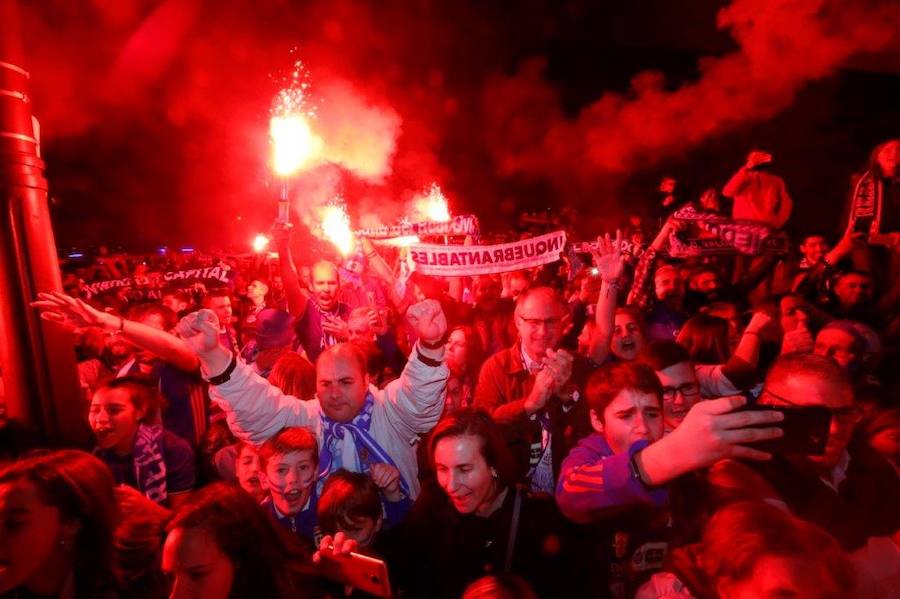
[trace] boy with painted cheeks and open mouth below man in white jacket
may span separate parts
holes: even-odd
[[[300,426],[281,429],[259,448],[259,468],[269,491],[263,508],[294,534],[315,542],[319,447],[313,433]]]

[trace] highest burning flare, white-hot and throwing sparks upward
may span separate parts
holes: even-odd
[[[310,125],[316,114],[310,105],[308,78],[303,63],[296,61],[288,86],[278,92],[273,102],[269,136],[272,168],[280,177],[313,163],[322,151],[322,139]]]

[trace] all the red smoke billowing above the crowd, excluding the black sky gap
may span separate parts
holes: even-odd
[[[433,181],[455,212],[468,207],[485,218],[511,212],[523,181],[552,184],[547,204],[596,196],[611,178],[771,117],[804,84],[882,47],[897,27],[896,9],[867,2],[735,0],[719,27],[739,50],[705,59],[695,82],[669,91],[661,75],[642,73],[627,94],[605,94],[568,118],[544,79],[545,59],[518,64],[543,50],[567,9],[553,16],[515,2],[352,0],[20,5],[51,190],[65,217],[118,207],[105,229],[91,230],[94,239],[147,234],[156,224],[198,244],[250,238],[274,218],[270,75],[289,65],[293,47],[338,148],[332,165],[300,183],[295,201],[310,207],[341,192],[359,226],[405,214]],[[502,29],[507,21],[515,31]],[[500,74],[516,65],[516,75]],[[76,179],[71,172],[55,180],[62,166],[82,163],[77,186],[66,184]]]

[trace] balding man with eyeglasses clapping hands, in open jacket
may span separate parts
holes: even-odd
[[[564,315],[553,289],[522,292],[514,316],[519,338],[484,363],[475,387],[475,407],[501,425],[523,477],[548,493],[562,459],[591,430],[579,401],[590,365],[558,348]]]

